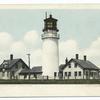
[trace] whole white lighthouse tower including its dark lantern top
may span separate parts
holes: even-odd
[[[54,19],[52,15],[44,19],[43,32],[43,76],[48,76],[49,79],[53,79],[58,76],[59,70],[59,34],[57,33],[57,19]]]

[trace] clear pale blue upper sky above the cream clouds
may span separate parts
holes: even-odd
[[[58,19],[61,40],[76,39],[81,47],[87,47],[100,34],[100,10],[0,10],[0,31],[16,39],[30,30],[41,35],[46,11]]]

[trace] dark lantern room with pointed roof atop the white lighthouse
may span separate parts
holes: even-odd
[[[49,18],[44,19],[44,31],[48,31],[48,30],[54,30],[54,31],[59,31],[57,29],[57,19],[54,19],[52,17],[52,15],[50,14]]]

